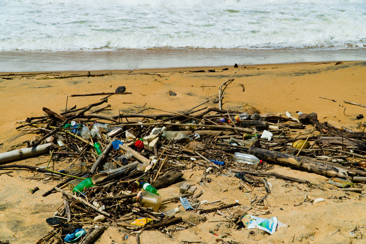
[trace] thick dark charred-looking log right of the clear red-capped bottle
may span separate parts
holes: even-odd
[[[306,158],[300,158],[283,152],[271,151],[256,147],[241,147],[227,144],[217,144],[223,147],[225,152],[241,152],[244,154],[251,154],[259,159],[269,160],[276,163],[286,164],[289,166],[296,167],[300,170],[305,170],[311,173],[320,174],[328,177],[338,177],[350,180],[350,177],[354,173],[347,171],[346,169],[341,169],[332,165],[321,164],[318,162],[313,162]]]

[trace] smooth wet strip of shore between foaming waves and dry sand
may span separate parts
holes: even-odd
[[[365,61],[366,48],[338,50],[186,49],[132,51],[0,51],[0,72],[142,70],[184,67]]]

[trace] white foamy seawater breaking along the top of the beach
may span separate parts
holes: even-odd
[[[0,57],[10,61],[12,53],[24,61],[28,54],[48,59],[55,52],[136,54],[141,61],[143,51],[204,49],[217,55],[222,49],[346,49],[363,56],[366,0],[0,0],[0,26]],[[0,62],[4,71],[9,65]],[[32,65],[23,69],[36,69]]]

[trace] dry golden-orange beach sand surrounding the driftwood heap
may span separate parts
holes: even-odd
[[[327,121],[335,127],[345,126],[362,131],[363,127],[361,130],[356,127],[359,122],[365,122],[365,119],[358,120],[356,116],[366,115],[365,108],[346,104],[343,101],[366,104],[366,62],[335,64],[336,62],[244,65],[245,67],[232,77],[234,81],[225,89],[223,109],[258,110],[261,113],[288,111],[294,117],[297,111],[317,112],[320,122]],[[48,79],[53,77],[52,74],[15,73],[16,75],[4,76],[9,73],[1,73],[3,75],[1,78],[12,78],[12,80],[0,79],[0,126],[2,128],[0,153],[14,149],[11,148],[12,145],[21,144],[35,136],[31,133],[26,134],[28,131],[16,130],[15,127],[18,126],[16,122],[24,121],[27,117],[41,116],[44,114],[42,107],[61,112],[66,108],[66,101],[67,108],[74,105],[83,107],[96,103],[104,97],[71,97],[73,94],[114,92],[118,86],[126,86],[126,92],[132,92],[132,94],[110,96],[108,110],[101,112],[104,115],[115,115],[119,111],[139,112],[146,108],[150,108],[143,111],[146,114],[159,114],[163,113],[162,111],[183,112],[205,101],[208,102],[199,108],[218,107],[212,101],[217,97],[219,87],[238,70],[233,66],[227,66],[226,71],[223,71],[223,68],[226,66],[90,71],[91,74],[108,75],[64,79]],[[207,72],[209,69],[216,72]],[[189,72],[196,70],[206,72]],[[60,74],[87,74],[87,71],[59,72],[55,75]],[[169,90],[177,95],[169,96]],[[100,107],[105,106],[107,105]],[[308,126],[307,129],[311,130],[312,126]],[[24,145],[17,148],[22,147]],[[45,165],[48,160],[49,155],[44,155],[8,164],[35,166]],[[67,162],[60,162],[55,165],[55,169],[60,170],[65,166]],[[0,241],[36,243],[51,230],[45,219],[52,217],[53,212],[63,204],[60,193],[53,193],[47,197],[41,195],[60,181],[47,176],[42,180],[32,180],[29,178],[34,177],[34,174],[30,171],[12,171],[10,174],[0,175]],[[174,232],[173,239],[158,231],[144,231],[140,235],[140,243],[182,243],[182,241],[217,243],[216,239],[220,239],[220,236],[214,236],[209,233],[209,230],[217,234],[230,232],[227,237],[221,239],[241,243],[365,243],[363,240],[365,229],[361,227],[366,226],[366,204],[363,198],[359,198],[359,193],[350,192],[350,195],[345,195],[329,189],[331,185],[326,183],[327,177],[279,164],[275,164],[271,171],[309,180],[323,188],[323,190],[309,188],[305,184],[298,183],[289,186],[283,180],[268,178],[273,185],[272,193],[267,198],[268,204],[272,207],[269,208],[270,214],[261,215],[261,217],[277,216],[280,222],[286,224],[286,227],[277,230],[273,235],[258,229],[250,232],[247,229],[228,228],[228,222],[209,222],[224,219],[217,214],[213,216],[212,213],[208,214],[208,221],[199,223],[196,215],[183,210],[176,216],[198,223],[196,226]],[[2,172],[4,170],[0,171]],[[198,190],[202,189],[204,193],[201,200],[222,200],[227,204],[239,200],[242,206],[249,206],[254,195],[259,197],[265,195],[262,188],[255,188],[252,193],[240,191],[239,181],[233,177],[232,173],[209,175],[212,181],[206,186],[197,184],[202,177],[202,170],[198,167],[184,170],[183,173],[188,183],[196,184]],[[40,174],[37,175],[37,177],[40,176]],[[172,192],[178,193],[181,184],[161,189],[161,195],[169,196]],[[32,195],[29,189],[34,186],[38,186],[40,191]],[[296,203],[303,202],[305,195],[310,199],[322,197],[325,202],[294,206],[294,204],[297,205]],[[346,197],[339,199],[340,195]],[[334,196],[338,199],[333,199]],[[178,204],[167,204],[167,209],[173,207],[178,207]],[[181,206],[180,208],[182,209]],[[356,226],[360,229],[352,234],[351,231]],[[336,232],[338,228],[340,231]],[[136,243],[132,235],[129,235],[127,240],[123,240],[124,232],[118,231],[119,229],[109,227],[96,243],[112,243],[112,241],[119,244]]]

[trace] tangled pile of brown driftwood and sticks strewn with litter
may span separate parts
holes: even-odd
[[[143,207],[136,202],[137,193],[128,191],[128,185],[135,181],[149,182],[156,189],[165,188],[183,181],[181,171],[192,167],[202,168],[202,182],[210,180],[208,174],[228,171],[242,173],[240,182],[243,187],[264,185],[267,194],[270,194],[268,184],[265,178],[258,176],[273,176],[318,187],[308,180],[266,172],[273,167],[273,162],[329,178],[347,180],[352,187],[344,189],[350,191],[362,192],[362,184],[359,182],[366,182],[365,168],[362,163],[357,163],[366,158],[366,133],[352,132],[347,128],[338,129],[329,123],[319,122],[316,113],[303,114],[298,118],[293,118],[290,114],[259,114],[259,117],[253,116],[257,120],[249,117],[235,122],[233,117],[243,111],[197,108],[202,106],[200,104],[183,113],[145,114],[141,111],[106,116],[100,114],[103,108],[95,109],[104,103],[107,103],[107,99],[83,108],[74,107],[60,114],[44,108],[46,116],[19,122],[17,129],[37,135],[24,143],[28,144],[27,147],[0,154],[1,164],[37,154],[51,155],[46,167],[0,166],[2,170],[29,169],[61,181],[43,194],[46,197],[61,192],[64,205],[50,220],[53,230],[38,243],[62,243],[67,234],[82,228],[86,228],[87,233],[77,241],[91,243],[108,226],[119,226],[126,233],[135,234],[139,243],[138,236],[143,230],[156,229],[172,236],[174,231],[196,225],[182,217],[164,215],[160,211]],[[89,112],[92,109],[94,111]],[[150,109],[149,112],[151,111],[153,110]],[[249,114],[253,112],[249,111]],[[128,121],[131,118],[134,121]],[[95,121],[102,121],[98,123],[108,124],[109,129],[99,127],[100,138],[90,136],[85,139],[78,135],[78,129],[66,126],[71,121],[89,129],[93,128]],[[182,132],[186,137],[169,140],[164,136],[164,130]],[[258,141],[246,147],[245,142],[252,134],[257,134]],[[141,149],[135,145],[139,138],[145,138]],[[301,147],[293,144],[299,140],[303,141]],[[61,141],[61,144],[57,144],[57,141]],[[100,153],[94,148],[96,142],[101,145]],[[116,160],[126,152],[132,152],[128,162]],[[236,162],[232,157],[235,152],[254,155],[264,163],[249,165]],[[80,163],[86,163],[87,169],[72,174],[60,172],[70,165]],[[106,163],[112,163],[116,169],[99,173]],[[136,166],[141,163],[149,164],[151,169],[136,170]],[[85,174],[90,175],[93,186],[83,189],[82,193],[73,193],[68,188],[68,183]],[[207,208],[207,205],[201,205],[198,200],[202,191],[195,193],[195,187],[184,184],[180,190],[180,195],[177,193],[162,202],[187,198],[191,204],[187,211],[200,216],[201,221],[205,221],[206,213],[240,205],[220,203],[217,207]],[[258,201],[252,202],[256,203]],[[238,219],[250,208],[251,206],[232,210],[229,221],[238,223]],[[131,225],[131,221],[138,217],[149,219],[149,222],[145,225]]]

